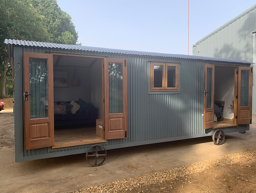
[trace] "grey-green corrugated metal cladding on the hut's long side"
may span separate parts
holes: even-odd
[[[202,60],[80,52],[77,50],[43,49],[38,47],[23,47],[22,51],[39,53],[61,52],[128,59],[128,138],[108,140],[102,144],[106,149],[207,136],[212,130],[203,130],[203,64],[234,64]],[[162,94],[149,90],[150,61],[180,63],[179,93],[172,94],[169,92]],[[240,64],[240,66],[248,65]],[[225,132],[248,130],[248,125],[226,128],[224,130]],[[24,160],[71,155],[84,153],[89,146],[24,150],[23,155]],[[33,156],[34,158],[31,158]]]

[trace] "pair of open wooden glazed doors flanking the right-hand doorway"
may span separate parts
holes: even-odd
[[[234,124],[251,124],[252,68],[234,70]],[[214,127],[215,65],[204,64],[203,128]]]

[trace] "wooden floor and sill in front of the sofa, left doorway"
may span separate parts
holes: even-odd
[[[56,129],[54,130],[54,146],[52,148],[70,147],[101,142],[106,142],[106,140],[96,135],[95,127]]]

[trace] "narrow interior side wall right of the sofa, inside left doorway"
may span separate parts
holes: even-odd
[[[98,59],[91,70],[91,103],[97,108],[97,118],[102,118],[102,60]]]

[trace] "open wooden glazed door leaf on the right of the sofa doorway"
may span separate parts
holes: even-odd
[[[128,137],[127,60],[104,59],[105,139]]]

